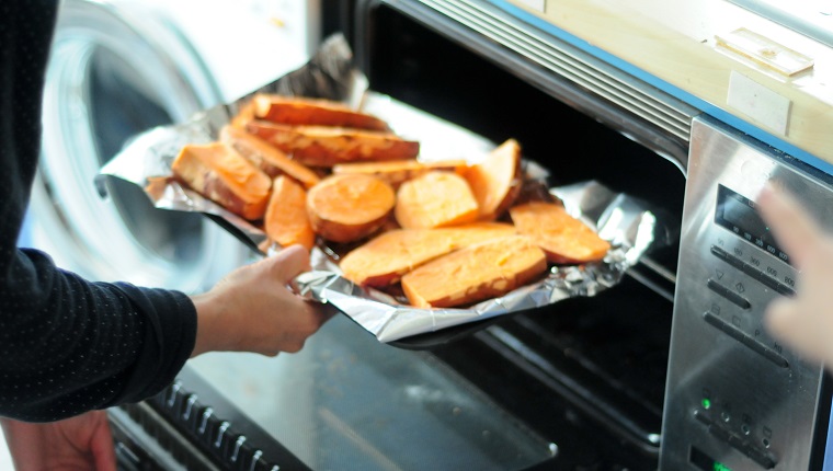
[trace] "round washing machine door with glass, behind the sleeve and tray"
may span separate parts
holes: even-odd
[[[44,95],[39,172],[21,244],[93,280],[196,292],[251,260],[197,214],[156,209],[136,185],[99,169],[137,133],[221,101],[189,42],[140,2],[65,0]]]

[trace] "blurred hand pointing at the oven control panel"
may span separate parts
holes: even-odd
[[[789,194],[773,186],[758,196],[761,214],[800,272],[794,298],[766,309],[767,330],[812,360],[833,367],[833,239]]]

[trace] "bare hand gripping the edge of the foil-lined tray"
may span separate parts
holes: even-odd
[[[309,269],[307,250],[293,245],[231,272],[209,291],[194,296],[197,334],[192,356],[214,351],[269,356],[298,352],[335,312],[289,289],[292,280]]]

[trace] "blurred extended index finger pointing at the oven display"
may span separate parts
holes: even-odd
[[[771,184],[764,186],[757,203],[778,244],[795,265],[803,266],[821,242],[821,231],[810,215],[791,195]]]

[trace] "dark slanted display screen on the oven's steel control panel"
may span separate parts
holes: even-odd
[[[757,214],[757,205],[752,199],[718,185],[717,209],[715,222],[734,232],[738,237],[752,242],[784,262],[789,263],[789,256],[778,249],[769,228]]]

